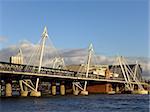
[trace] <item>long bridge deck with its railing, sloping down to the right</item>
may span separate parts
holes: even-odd
[[[87,80],[87,81],[100,81],[100,82],[111,82],[111,83],[126,83],[122,78],[106,78],[96,74],[89,74],[86,77],[83,72],[74,72],[63,69],[54,69],[48,67],[42,67],[41,72],[38,73],[38,66],[31,65],[20,65],[11,64],[6,62],[0,62],[0,75],[25,75],[25,76],[37,76],[37,77],[47,77],[47,78],[61,78],[61,79],[71,79],[71,80]],[[132,81],[132,84],[136,82]],[[147,85],[146,83],[141,83]]]

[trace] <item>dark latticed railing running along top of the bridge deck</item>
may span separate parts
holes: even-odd
[[[78,72],[77,73],[77,72],[69,71],[69,70],[41,67],[41,71],[39,73],[38,72],[38,66],[11,64],[11,63],[7,63],[7,62],[0,62],[0,70],[86,78],[85,72]],[[91,74],[91,73],[88,75],[88,78],[106,79],[106,77],[104,77],[104,76],[100,76],[97,74]],[[114,79],[112,79],[112,80],[114,80]],[[122,79],[117,79],[117,80],[122,80]]]

